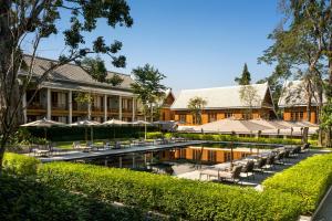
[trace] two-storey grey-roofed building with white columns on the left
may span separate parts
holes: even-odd
[[[31,56],[25,56],[30,62]],[[33,63],[33,76],[40,77],[44,70],[58,61],[37,57]],[[21,76],[24,76],[22,71]],[[107,77],[115,73],[108,72]],[[117,73],[116,73],[117,74]],[[33,86],[23,96],[24,120],[32,122],[43,117],[74,123],[81,119],[104,122],[111,118],[132,122],[141,118],[137,96],[132,93],[133,80],[129,75],[118,74],[123,82],[117,86],[101,83],[91,77],[82,67],[66,64],[52,71],[37,91]],[[91,102],[80,103],[76,97],[89,94]],[[31,99],[31,102],[30,102]]]

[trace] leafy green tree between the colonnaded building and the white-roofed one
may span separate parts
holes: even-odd
[[[135,82],[131,86],[142,102],[145,120],[149,113],[151,122],[153,122],[153,108],[156,102],[165,94],[166,86],[162,84],[165,75],[149,64],[134,69],[132,73]]]

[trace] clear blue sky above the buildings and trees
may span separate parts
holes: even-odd
[[[271,42],[268,34],[280,22],[278,0],[129,0],[134,25],[108,28],[98,22],[93,38],[120,40],[126,69],[108,70],[129,74],[132,69],[149,63],[164,73],[164,83],[175,92],[234,85],[247,62],[253,81],[268,76],[273,67],[257,64]],[[64,15],[66,18],[66,15]],[[59,22],[60,32],[66,20]],[[87,41],[89,42],[89,41]],[[25,45],[29,49],[29,45]],[[56,59],[63,36],[52,36],[41,44],[39,55]],[[105,57],[106,59],[106,57]]]

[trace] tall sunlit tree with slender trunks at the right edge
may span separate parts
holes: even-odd
[[[310,97],[313,96],[318,101],[320,113],[323,106],[323,87],[331,87],[332,84],[332,0],[280,2],[284,13],[283,23],[270,35],[276,42],[266,51],[266,55],[270,53],[274,56],[270,61],[288,62],[293,70],[294,66],[301,69],[304,65],[307,70],[302,69],[298,73],[305,81],[308,112]],[[328,84],[324,82],[324,69],[328,70]],[[312,88],[315,88],[317,94],[311,92]],[[329,93],[325,95],[331,97]],[[325,128],[325,131],[330,134],[331,128]],[[321,136],[320,131],[320,140]]]

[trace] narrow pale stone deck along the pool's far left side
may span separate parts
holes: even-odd
[[[134,146],[122,149],[107,149],[107,150],[92,150],[89,152],[73,150],[66,154],[54,155],[50,157],[39,157],[42,162],[51,162],[51,161],[74,161],[82,159],[96,159],[96,158],[105,158],[113,156],[122,156],[127,154],[136,154],[136,152],[151,152],[157,151],[162,149],[172,149],[177,147],[186,147],[190,145],[200,145],[206,144],[204,140],[190,140],[190,141],[181,141],[181,143],[172,143],[165,145],[147,145],[147,146]]]

